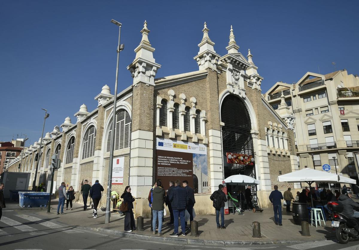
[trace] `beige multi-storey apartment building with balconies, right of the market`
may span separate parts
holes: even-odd
[[[322,169],[356,179],[359,161],[359,77],[346,69],[307,72],[297,83],[277,82],[265,99],[283,118],[294,117],[299,168]]]

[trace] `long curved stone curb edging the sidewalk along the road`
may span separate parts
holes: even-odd
[[[102,227],[77,227],[81,230],[91,230],[96,232],[102,232],[109,235],[114,235],[123,238],[129,238],[134,240],[145,240],[152,242],[163,242],[163,243],[173,243],[173,244],[191,244],[191,245],[269,245],[269,244],[295,244],[295,243],[303,243],[303,242],[315,242],[317,240],[280,240],[280,241],[272,241],[272,240],[254,240],[254,241],[233,241],[233,240],[196,240],[196,239],[178,239],[171,237],[158,237],[158,236],[150,236],[150,235],[142,235],[142,234],[134,234],[123,231],[104,229]],[[328,238],[327,238],[328,239]]]

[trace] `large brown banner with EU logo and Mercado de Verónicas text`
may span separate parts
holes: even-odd
[[[195,193],[208,193],[207,147],[203,144],[159,139],[156,141],[156,179],[188,181]]]

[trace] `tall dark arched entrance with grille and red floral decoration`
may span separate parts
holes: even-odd
[[[221,106],[221,120],[224,122],[224,178],[234,174],[256,178],[251,118],[244,102],[234,95],[226,96]],[[232,156],[227,158],[228,154]]]

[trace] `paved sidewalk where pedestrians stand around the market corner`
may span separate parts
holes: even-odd
[[[46,209],[34,210],[34,212],[68,225],[133,239],[167,242],[177,240],[191,244],[230,245],[318,241],[335,236],[330,221],[326,222],[325,227],[318,226],[316,228],[315,226],[309,226],[310,237],[300,235],[301,227],[293,223],[292,214],[287,214],[285,208],[283,211],[283,226],[275,225],[272,208],[265,208],[263,212],[253,213],[246,211],[244,215],[238,215],[237,213],[235,215],[225,215],[226,229],[216,228],[215,215],[197,215],[195,220],[198,221],[198,237],[190,236],[189,231],[186,236],[170,237],[169,234],[172,234],[173,226],[166,224],[169,221],[169,217],[163,222],[163,236],[153,235],[153,232],[149,231],[149,219],[144,219],[144,231],[126,233],[124,232],[123,225],[124,217],[121,217],[118,213],[112,213],[110,223],[105,224],[105,212],[100,209],[98,209],[98,218],[93,218],[93,210],[83,211],[83,207],[79,203],[75,203],[74,210],[64,210],[65,215],[56,215],[57,205],[55,205],[55,203],[56,201],[52,202],[51,213],[46,213]],[[253,221],[260,222],[262,234],[262,238],[260,239],[252,237]]]

